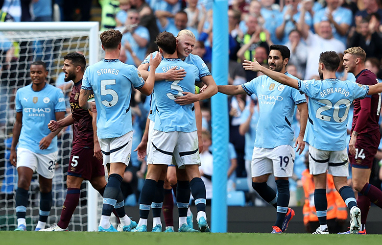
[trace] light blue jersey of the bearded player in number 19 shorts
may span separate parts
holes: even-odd
[[[297,79],[289,73],[287,76]],[[259,121],[255,147],[275,148],[293,144],[291,126],[296,104],[307,102],[296,89],[262,75],[241,85],[249,96],[255,94],[259,101]]]

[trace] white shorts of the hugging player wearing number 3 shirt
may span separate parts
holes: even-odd
[[[197,131],[166,133],[153,129],[151,140],[147,145],[149,148],[147,151],[148,164],[176,164],[178,168],[184,168],[184,165],[201,164]],[[175,163],[172,161],[173,157]]]

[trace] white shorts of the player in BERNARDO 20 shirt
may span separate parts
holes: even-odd
[[[349,176],[348,152],[345,149],[339,151],[319,150],[309,146],[309,172],[312,175],[328,173],[333,176]]]

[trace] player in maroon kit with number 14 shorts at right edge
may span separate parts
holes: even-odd
[[[359,84],[374,85],[377,76],[365,68],[365,51],[350,48],[344,51],[343,65],[348,73],[353,73]],[[361,210],[361,228],[358,234],[366,234],[365,224],[370,201],[382,208],[382,192],[369,184],[371,167],[381,141],[378,124],[381,112],[381,95],[366,96],[354,100],[354,115],[351,140],[349,143],[349,159],[352,165],[353,187],[358,191],[357,205]],[[349,231],[341,234],[349,234]]]

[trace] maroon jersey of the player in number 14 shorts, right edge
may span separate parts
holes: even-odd
[[[359,84],[365,84],[365,85],[374,85],[378,83],[377,76],[370,72],[369,70],[363,70],[357,75],[357,80]],[[370,115],[367,121],[365,123],[362,123],[362,125],[357,125],[357,129],[360,129],[360,132],[356,130],[359,134],[364,133],[375,133],[376,131],[379,131],[379,118],[380,118],[380,111],[381,111],[381,95],[368,95],[366,98],[371,98],[370,103]],[[352,132],[356,127],[356,123],[359,120],[362,120],[358,118],[360,111],[361,111],[361,100],[359,98],[354,100],[354,116],[353,116],[353,123],[352,123]],[[365,120],[365,119],[364,119]],[[362,120],[363,121],[363,120]]]

